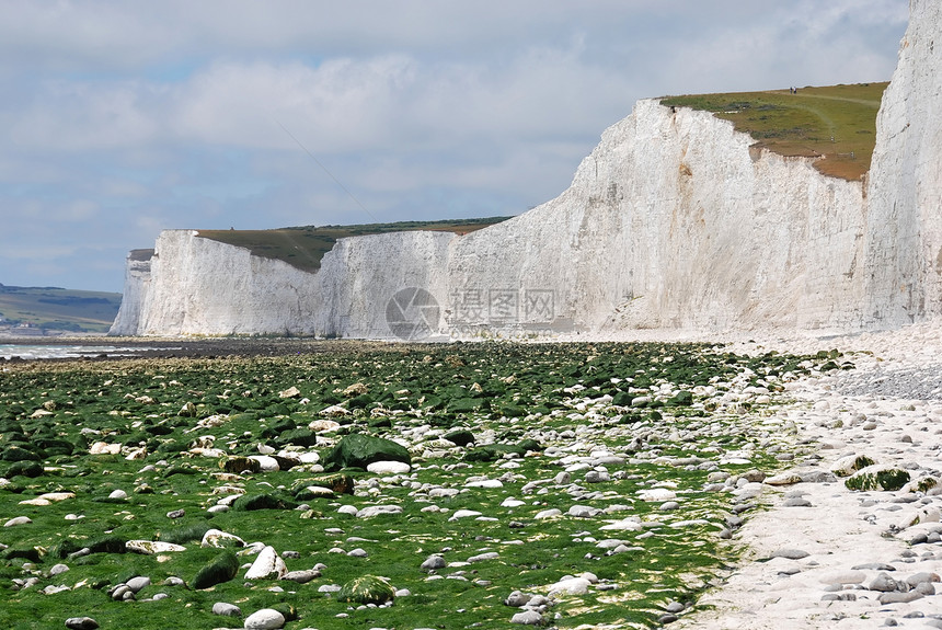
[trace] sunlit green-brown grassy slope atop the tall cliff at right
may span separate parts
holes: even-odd
[[[876,144],[876,113],[888,83],[858,83],[770,92],[668,96],[668,107],[713,112],[781,156],[820,158],[815,168],[832,177],[860,180]]]

